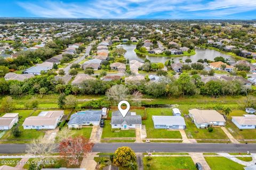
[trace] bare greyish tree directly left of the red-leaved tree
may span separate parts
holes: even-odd
[[[28,154],[35,154],[39,156],[39,161],[44,163],[46,156],[51,154],[56,146],[53,143],[47,142],[43,137],[33,139],[31,143],[27,145],[26,152]]]

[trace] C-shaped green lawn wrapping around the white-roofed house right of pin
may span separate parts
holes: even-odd
[[[168,131],[166,129],[155,129],[152,120],[153,115],[172,116],[172,109],[170,108],[146,108],[147,120],[142,121],[146,125],[147,138],[159,139],[181,139],[179,131]]]

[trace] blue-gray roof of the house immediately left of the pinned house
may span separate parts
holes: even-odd
[[[83,112],[83,113],[82,113]],[[83,122],[100,121],[102,111],[82,111],[71,115],[69,124],[84,124]]]

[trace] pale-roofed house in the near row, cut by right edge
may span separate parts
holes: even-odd
[[[232,116],[238,129],[256,129],[256,115]]]

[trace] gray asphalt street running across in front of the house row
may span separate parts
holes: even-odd
[[[231,143],[97,143],[93,152],[114,152],[118,147],[128,146],[135,152],[253,152],[256,144]],[[25,144],[0,144],[0,154],[18,154],[26,150]]]

